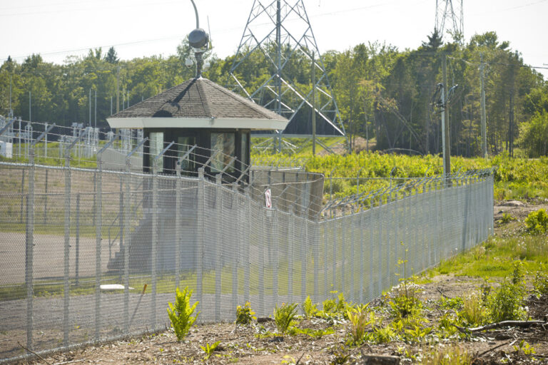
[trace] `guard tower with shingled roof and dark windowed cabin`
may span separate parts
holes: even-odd
[[[227,181],[238,179],[250,163],[252,130],[283,130],[288,124],[283,116],[199,75],[107,120],[111,128],[143,129],[148,138],[143,154],[146,172],[151,169],[151,158],[175,142],[158,163],[160,173],[173,172],[176,160],[196,145],[181,170],[197,173],[197,168],[213,157],[205,173],[224,170],[223,180]]]

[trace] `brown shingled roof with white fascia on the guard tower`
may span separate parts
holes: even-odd
[[[107,120],[112,128],[284,129],[288,123],[207,78],[188,80]]]

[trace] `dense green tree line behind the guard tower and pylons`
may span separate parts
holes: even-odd
[[[9,114],[11,85],[11,108],[25,120],[93,125],[96,119],[99,127],[108,128],[106,118],[116,113],[117,96],[123,109],[192,78],[194,69],[184,66],[188,51],[185,39],[168,57],[122,61],[114,48],[98,48],[61,65],[44,62],[39,54],[22,63],[9,58],[0,66],[0,114]],[[253,51],[238,66],[236,76],[244,88],[255,90],[273,74],[268,52]],[[310,57],[283,48],[283,56],[288,54],[284,78],[310,90]],[[230,76],[235,57],[211,56],[204,76],[238,91]],[[452,155],[482,153],[482,69],[489,153],[514,155],[519,148],[530,157],[548,155],[548,83],[495,32],[476,34],[465,43],[458,36],[444,42],[434,31],[416,49],[401,51],[376,42],[323,53],[350,147],[361,136],[375,138],[378,150],[440,153],[440,109],[434,104],[443,58],[447,89],[458,85],[447,106]],[[309,133],[310,113],[295,119],[292,133]]]

